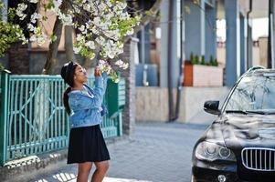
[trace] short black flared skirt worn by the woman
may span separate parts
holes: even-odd
[[[72,128],[67,164],[110,160],[100,125]]]

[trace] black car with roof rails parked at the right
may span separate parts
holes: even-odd
[[[192,181],[275,181],[275,70],[257,66],[241,76],[217,119],[193,150]]]

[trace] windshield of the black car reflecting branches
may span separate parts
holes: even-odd
[[[229,97],[225,111],[275,114],[275,76],[245,76]]]

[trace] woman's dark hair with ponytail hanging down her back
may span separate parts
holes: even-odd
[[[70,61],[69,63],[65,64],[61,68],[61,77],[65,81],[66,84],[69,85],[69,87],[65,90],[63,93],[63,104],[65,106],[65,110],[68,114],[70,114],[70,108],[69,108],[69,92],[71,91],[71,87],[73,87],[73,80],[74,80],[74,74],[75,70],[78,64]]]

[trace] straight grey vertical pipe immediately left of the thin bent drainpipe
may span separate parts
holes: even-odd
[[[168,82],[168,106],[169,106],[169,122],[173,121],[174,116],[174,101],[173,101],[173,55],[172,55],[172,45],[173,45],[173,30],[174,30],[174,21],[173,21],[173,12],[174,12],[174,0],[169,1],[169,23],[168,23],[168,74],[167,74],[167,82]]]

